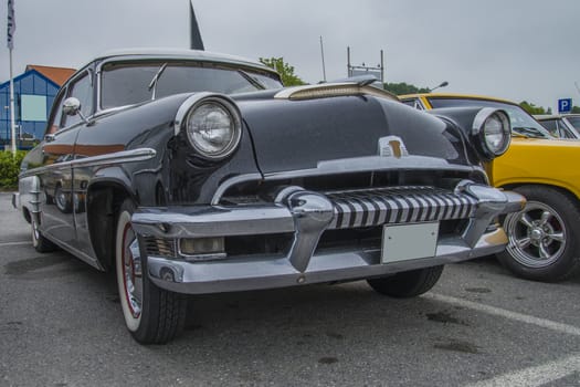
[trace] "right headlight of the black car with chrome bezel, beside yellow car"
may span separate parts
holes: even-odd
[[[493,107],[482,108],[473,121],[472,140],[486,161],[505,154],[512,143],[508,114]]]

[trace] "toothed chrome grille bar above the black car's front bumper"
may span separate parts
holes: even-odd
[[[435,187],[389,187],[325,192],[334,205],[328,229],[413,223],[473,216],[477,199]]]

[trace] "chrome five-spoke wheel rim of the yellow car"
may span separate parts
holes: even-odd
[[[568,232],[550,206],[528,201],[524,210],[508,215],[504,224],[509,238],[506,250],[518,263],[540,269],[562,257]]]

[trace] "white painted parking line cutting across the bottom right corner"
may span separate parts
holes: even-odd
[[[576,374],[580,369],[580,355],[565,357],[560,360],[546,363],[537,367],[520,369],[492,379],[470,384],[466,387],[504,387],[528,386],[539,387]]]

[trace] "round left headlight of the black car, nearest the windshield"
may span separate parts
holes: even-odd
[[[242,135],[238,109],[229,101],[218,97],[196,104],[187,115],[184,128],[193,148],[211,159],[232,154]]]

